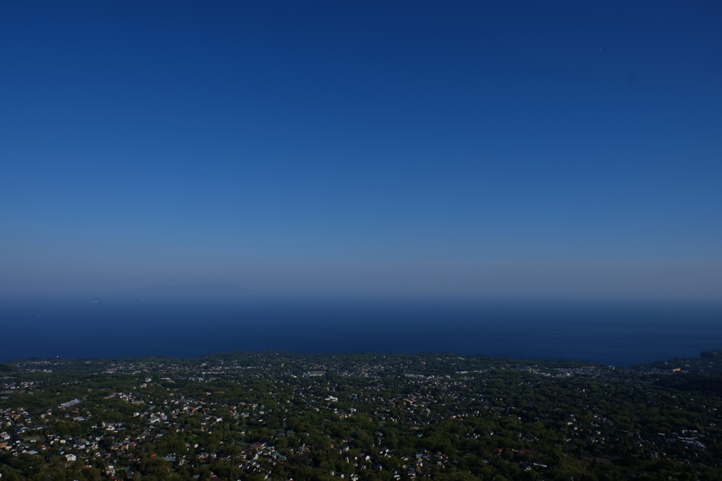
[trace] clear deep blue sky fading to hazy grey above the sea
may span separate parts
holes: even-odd
[[[0,290],[722,298],[718,1],[5,1]]]

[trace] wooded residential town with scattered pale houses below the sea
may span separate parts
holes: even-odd
[[[290,352],[0,366],[3,481],[722,478],[714,352],[631,368]]]

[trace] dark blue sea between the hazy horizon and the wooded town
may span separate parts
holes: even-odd
[[[108,298],[0,301],[0,361],[235,350],[456,352],[626,366],[722,348],[722,304]]]

